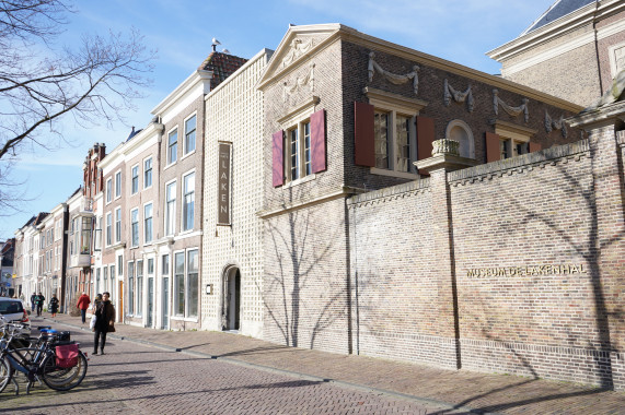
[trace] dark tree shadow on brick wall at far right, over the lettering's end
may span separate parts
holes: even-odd
[[[610,333],[610,320],[612,319],[617,324],[625,324],[625,313],[622,307],[614,306],[609,309],[606,304],[606,295],[604,292],[604,278],[605,275],[602,274],[601,261],[602,256],[605,254],[612,247],[623,244],[625,239],[625,230],[623,228],[615,229],[615,232],[609,237],[600,235],[600,212],[597,203],[597,186],[600,180],[605,180],[605,177],[598,177],[595,171],[598,168],[595,166],[598,162],[598,149],[597,145],[590,142],[589,145],[589,158],[592,168],[592,176],[583,176],[581,179],[575,177],[570,174],[570,168],[567,169],[567,164],[569,161],[562,158],[557,161],[555,166],[558,170],[559,177],[556,180],[549,181],[544,178],[536,179],[536,187],[554,188],[564,179],[566,187],[560,190],[564,191],[568,198],[581,198],[585,206],[585,218],[586,218],[586,235],[583,238],[579,237],[578,233],[571,232],[570,228],[565,227],[563,224],[554,221],[553,217],[544,214],[537,210],[532,209],[532,204],[523,204],[512,194],[507,194],[508,200],[513,204],[518,212],[521,212],[520,216],[514,218],[513,223],[504,224],[504,229],[508,230],[511,235],[523,229],[525,226],[532,223],[541,223],[546,226],[552,233],[557,235],[562,240],[564,240],[568,249],[576,256],[582,258],[588,266],[587,275],[588,282],[590,283],[592,289],[592,301],[594,305],[594,320],[597,330],[597,343],[592,344],[588,342],[588,347],[593,349],[594,353],[594,366],[598,374],[603,374],[601,377],[601,388],[602,389],[613,389],[613,378],[612,378],[612,364],[610,360],[610,353],[617,352],[617,346],[611,339]],[[563,164],[564,162],[564,164]],[[620,171],[623,171],[622,161],[618,161],[621,165]],[[583,179],[589,179],[588,183],[582,182]],[[621,182],[621,202],[625,204],[625,194],[623,178],[620,175]],[[566,215],[564,211],[558,212],[559,215]],[[575,230],[575,229],[572,229]],[[614,275],[613,275],[614,276]],[[618,276],[618,275],[616,275]],[[576,340],[575,336],[569,336],[569,341]],[[579,345],[578,345],[579,346]],[[597,356],[607,356],[607,358],[601,358]]]

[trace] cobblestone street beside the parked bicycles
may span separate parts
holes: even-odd
[[[67,329],[67,328],[62,328]],[[109,339],[105,355],[91,355],[89,332],[72,330],[90,357],[80,387],[56,392],[36,386],[15,396],[10,384],[0,411],[21,414],[425,414],[423,405],[241,365],[219,363]],[[21,376],[23,381],[23,377]]]

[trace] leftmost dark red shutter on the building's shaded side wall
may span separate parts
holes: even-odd
[[[354,103],[354,159],[357,166],[375,166],[373,106]]]

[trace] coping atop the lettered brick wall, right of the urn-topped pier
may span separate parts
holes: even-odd
[[[506,158],[499,162],[491,162],[475,167],[464,168],[462,170],[451,171],[448,178],[452,186],[458,186],[459,183],[464,185],[467,181],[532,170],[535,167],[553,164],[563,158],[574,158],[579,161],[581,157],[585,157],[588,152],[589,143],[588,139],[585,139],[575,143],[556,145],[551,149]]]

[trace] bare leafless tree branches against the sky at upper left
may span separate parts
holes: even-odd
[[[135,29],[57,50],[71,12],[67,0],[0,1],[0,158],[50,149],[66,115],[82,126],[124,120],[150,84],[154,52]]]

